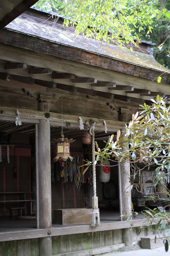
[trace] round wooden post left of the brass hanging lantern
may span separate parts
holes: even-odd
[[[49,103],[39,103],[39,110],[49,112]],[[51,228],[51,166],[50,122],[45,118],[38,124],[38,215],[39,228]],[[39,239],[39,255],[52,255],[51,237]]]

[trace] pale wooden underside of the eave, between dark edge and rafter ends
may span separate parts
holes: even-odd
[[[160,92],[163,91],[167,94],[170,94],[170,89],[168,84],[163,84],[163,83],[158,84],[156,81],[146,80],[143,78],[134,77],[132,75],[118,73],[115,71],[110,71],[108,69],[90,66],[84,63],[78,63],[78,62],[70,61],[67,59],[61,59],[58,57],[54,57],[52,55],[35,53],[29,50],[25,51],[25,49],[21,49],[21,48],[16,49],[15,47],[10,45],[0,44],[0,48],[1,48],[0,58],[6,59],[8,61],[19,62],[22,60],[22,62],[24,62],[25,59],[27,59],[27,63],[31,66],[34,65],[39,67],[52,68],[53,70],[59,71],[59,72],[62,72],[63,70],[65,70],[67,73],[76,73],[76,75],[80,75],[82,77],[84,76],[96,77],[97,80],[116,82],[118,85],[123,84],[127,86],[134,86],[134,88],[137,88],[137,89],[143,88],[148,90],[148,87],[149,87],[150,90],[152,91],[158,90]],[[20,53],[20,55],[18,53]],[[20,75],[21,75],[21,70],[20,70]],[[44,76],[43,79],[48,80],[46,79],[46,76]],[[67,79],[67,81],[68,80],[69,79]],[[73,85],[73,83],[66,83],[66,84]],[[78,84],[77,86],[81,87],[80,84]],[[84,87],[84,84],[82,87]],[[108,92],[107,91],[108,88],[104,88],[104,87],[98,88],[97,90]],[[124,95],[124,92],[119,91],[119,94]]]

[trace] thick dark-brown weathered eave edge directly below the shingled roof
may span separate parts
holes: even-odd
[[[156,80],[157,77],[161,76],[162,83],[170,84],[170,73],[168,72],[163,73],[163,71],[111,58],[103,54],[99,55],[98,53],[74,48],[58,42],[45,40],[44,38],[25,34],[23,32],[3,29],[0,31],[0,43],[148,80]]]

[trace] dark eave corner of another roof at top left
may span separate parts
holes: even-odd
[[[7,0],[6,3],[5,1],[3,1],[3,3],[0,2],[0,29],[7,26],[7,24],[17,18],[20,14],[22,14],[36,2],[37,0]]]

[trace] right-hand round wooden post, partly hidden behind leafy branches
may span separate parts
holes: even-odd
[[[121,129],[123,132],[123,129]],[[122,147],[122,151],[126,151],[127,144]],[[118,165],[119,176],[119,202],[120,202],[120,215],[131,213],[131,191],[129,191],[129,178],[130,178],[130,164],[129,162],[121,162]],[[124,216],[120,217],[121,221],[126,220]],[[123,230],[123,242],[126,246],[132,245],[132,230],[131,228],[124,228]]]

